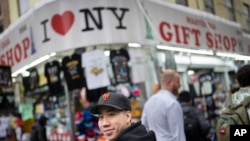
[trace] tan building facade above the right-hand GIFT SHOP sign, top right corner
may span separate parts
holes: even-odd
[[[249,0],[166,0],[193,9],[206,11],[226,20],[237,22],[242,30],[250,33]]]

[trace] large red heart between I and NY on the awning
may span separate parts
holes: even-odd
[[[62,16],[56,14],[52,17],[51,25],[55,32],[65,35],[75,20],[74,14],[71,11],[65,11]]]

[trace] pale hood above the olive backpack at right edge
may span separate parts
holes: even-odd
[[[245,87],[245,88],[240,88],[238,91],[236,91],[234,94],[231,96],[232,100],[232,107],[238,106],[246,97],[250,96],[250,88]]]

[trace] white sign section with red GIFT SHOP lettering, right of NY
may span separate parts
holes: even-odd
[[[188,48],[240,51],[238,39],[242,36],[236,25],[219,21],[215,16],[205,16],[201,11],[184,11],[180,5],[145,2],[144,7],[159,33],[160,42]]]

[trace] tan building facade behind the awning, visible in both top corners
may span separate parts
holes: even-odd
[[[40,0],[41,1],[41,0]],[[250,1],[249,0],[165,0],[181,4],[193,9],[206,11],[226,20],[240,23],[242,30],[250,33]],[[1,0],[0,32],[15,22],[39,0]]]

